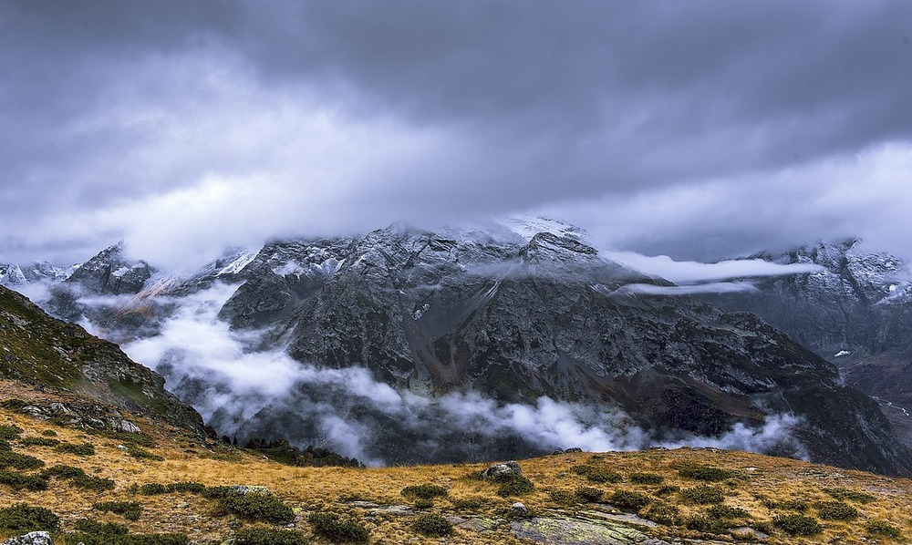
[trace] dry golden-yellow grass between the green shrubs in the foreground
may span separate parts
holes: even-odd
[[[221,542],[231,537],[233,529],[243,525],[244,521],[233,517],[215,516],[214,503],[210,499],[187,493],[143,496],[131,494],[130,486],[146,483],[169,484],[178,481],[201,482],[206,486],[261,485],[272,490],[287,505],[299,509],[303,517],[295,522],[295,528],[306,532],[308,536],[310,528],[306,522],[306,515],[314,511],[330,511],[365,523],[371,532],[371,543],[395,543],[399,540],[409,543],[437,543],[440,542],[439,539],[426,538],[411,530],[409,517],[372,514],[369,508],[356,507],[350,500],[362,499],[380,506],[409,505],[412,500],[403,498],[400,490],[409,485],[431,483],[449,489],[449,497],[435,499],[431,510],[446,516],[501,519],[507,518],[507,510],[517,500],[497,496],[496,487],[492,484],[466,478],[473,471],[483,469],[489,464],[368,469],[293,468],[252,452],[235,450],[230,451],[234,461],[212,459],[213,455],[220,452],[213,453],[201,447],[196,438],[180,430],[161,427],[141,418],[137,419],[137,422],[145,432],[155,437],[158,443],[158,447],[148,449],[164,457],[164,461],[130,458],[118,447],[116,440],[89,435],[78,429],[53,426],[10,410],[0,410],[0,425],[15,424],[22,427],[26,430],[24,436],[39,436],[45,429],[54,429],[57,432],[56,438],[62,441],[93,443],[97,454],[79,457],[57,452],[54,447],[17,447],[14,442],[17,452],[41,458],[47,466],[77,466],[90,475],[112,478],[116,483],[116,488],[107,492],[87,492],[70,488],[66,482],[56,479],[52,479],[48,490],[40,492],[14,491],[0,486],[0,505],[25,501],[30,505],[46,507],[61,516],[64,530],[72,530],[74,522],[78,519],[91,517],[105,522],[126,524],[132,532],[185,532],[194,542]],[[225,451],[221,453],[224,454]],[[617,484],[596,484],[571,470],[573,466],[585,463],[617,471],[625,478],[637,472],[658,473],[665,481],[662,485],[636,485],[627,479]],[[886,520],[901,529],[904,536],[912,536],[912,482],[905,478],[886,478],[787,458],[712,449],[681,448],[631,453],[607,452],[597,455],[575,453],[521,460],[523,475],[534,482],[536,490],[519,500],[537,514],[562,513],[564,516],[577,514],[585,517],[585,511],[591,506],[562,505],[555,502],[549,492],[565,491],[573,494],[575,488],[588,486],[604,490],[606,498],[618,489],[636,490],[655,497],[660,486],[689,488],[699,485],[698,481],[679,477],[675,467],[681,463],[740,470],[742,478],[730,478],[711,484],[724,491],[727,505],[750,512],[755,527],[763,527],[764,523],[770,527],[774,515],[787,512],[769,509],[767,505],[771,501],[800,499],[813,504],[814,501],[830,500],[822,488],[852,488],[876,497],[876,501],[866,505],[850,502],[861,513],[855,521],[822,521],[824,533],[811,538],[791,538],[781,531],[774,531],[767,540],[769,543],[871,543],[872,540],[866,535],[864,527],[867,520],[873,519]],[[675,493],[664,499],[677,505],[684,519],[705,513],[709,508],[686,505]],[[477,504],[478,507],[465,507],[466,500],[474,500],[473,505]],[[127,521],[117,515],[92,510],[91,504],[97,501],[138,501],[144,511],[139,520]],[[457,505],[461,507],[457,508]],[[813,508],[808,514],[816,516]],[[659,526],[648,530],[648,533],[665,540],[707,538],[682,526]],[[727,537],[724,539],[731,540]],[[876,540],[891,541],[883,538]],[[892,541],[907,542],[907,539],[904,537]],[[447,542],[519,541],[513,538],[509,526],[502,524],[491,534],[457,529]]]

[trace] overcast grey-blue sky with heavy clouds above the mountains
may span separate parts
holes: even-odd
[[[912,258],[912,2],[0,3],[0,262],[545,214]]]

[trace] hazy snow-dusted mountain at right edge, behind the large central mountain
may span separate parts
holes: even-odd
[[[705,299],[730,311],[759,314],[839,365],[847,384],[883,400],[900,437],[912,445],[912,284],[907,263],[886,253],[861,252],[858,244],[820,242],[783,254],[751,256],[783,264],[814,263],[823,270],[762,279],[756,282],[757,292]]]

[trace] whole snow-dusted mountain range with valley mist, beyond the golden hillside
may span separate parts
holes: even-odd
[[[859,304],[874,307],[878,278],[893,282],[902,266],[882,262],[872,270],[893,272],[867,283],[855,265],[826,271],[855,274]],[[3,270],[15,269],[25,270]],[[657,294],[673,284],[541,220],[276,240],[181,277],[120,243],[62,276],[43,277],[48,312],[121,344],[220,434],[242,440],[388,464],[697,444],[912,471],[877,404],[820,354],[884,354],[901,342],[882,350],[856,338],[865,314],[851,313],[844,334],[818,321],[802,336],[790,329],[794,311],[777,321],[767,311],[779,303],[758,303],[769,293],[827,314],[801,298],[848,297],[828,276],[757,281],[756,292],[711,303]],[[818,292],[798,289],[812,285]],[[892,285],[877,301],[907,308],[907,284]],[[884,324],[889,333],[904,323]]]

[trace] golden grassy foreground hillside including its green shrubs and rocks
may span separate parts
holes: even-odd
[[[534,487],[523,492],[522,481],[478,478],[487,464],[295,468],[253,451],[207,447],[148,417],[135,417],[140,433],[114,434],[26,414],[31,403],[67,396],[0,381],[0,507],[49,509],[59,518],[57,543],[519,543],[533,541],[517,535],[562,529],[565,540],[557,542],[565,543],[635,542],[643,534],[768,543],[907,542],[912,535],[912,481],[786,458],[688,448],[560,454],[519,461]],[[37,489],[41,482],[47,488]],[[241,501],[218,488],[230,485],[265,487],[272,496],[254,490]],[[530,513],[512,515],[516,501]],[[138,517],[99,509],[110,502],[140,509]],[[16,513],[41,514],[16,509],[0,510],[0,538],[23,533],[9,522]],[[450,533],[427,533],[451,524]],[[811,535],[790,534],[803,531]],[[609,534],[621,541],[606,540]]]

